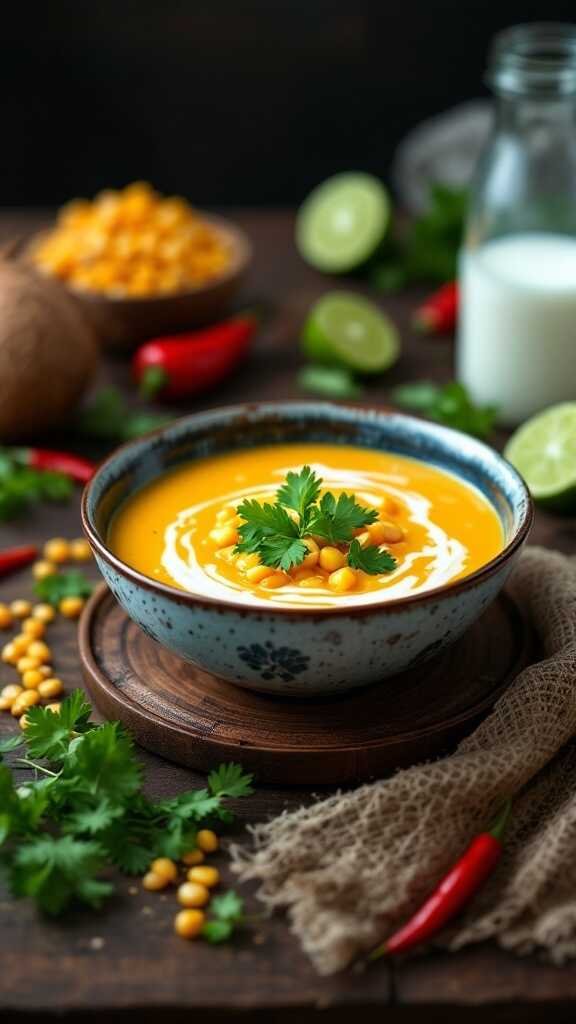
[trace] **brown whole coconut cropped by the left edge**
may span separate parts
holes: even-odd
[[[0,441],[66,420],[97,352],[93,328],[57,282],[0,258]]]

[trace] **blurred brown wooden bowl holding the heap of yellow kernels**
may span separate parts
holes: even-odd
[[[202,327],[225,315],[250,266],[252,245],[232,221],[203,212],[201,216],[224,239],[231,252],[225,270],[209,284],[186,292],[121,298],[70,288],[61,282],[94,325],[104,348],[130,351],[149,338]],[[43,233],[20,244],[19,251],[28,262],[32,248]]]

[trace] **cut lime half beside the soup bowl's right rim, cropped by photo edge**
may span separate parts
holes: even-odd
[[[534,501],[576,510],[576,401],[552,406],[512,434],[504,456],[524,476]]]

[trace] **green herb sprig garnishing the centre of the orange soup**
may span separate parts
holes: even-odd
[[[370,575],[392,572],[396,560],[387,551],[376,545],[363,548],[355,539],[355,530],[376,521],[376,509],[359,505],[354,495],[344,492],[337,498],[330,492],[320,497],[322,482],[310,466],[303,466],[299,473],[287,473],[274,505],[244,499],[237,509],[244,522],[235,550],[258,554],[264,565],[287,572],[303,562],[310,553],[304,539],[314,535],[329,544],[349,545],[347,562],[354,568]]]

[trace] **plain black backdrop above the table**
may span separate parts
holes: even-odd
[[[136,178],[199,204],[385,175],[422,118],[482,95],[487,45],[568,3],[40,0],[0,23],[0,205]]]

